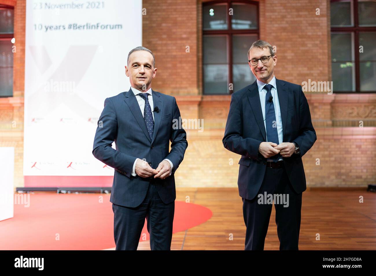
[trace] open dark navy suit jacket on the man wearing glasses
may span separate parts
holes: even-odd
[[[300,154],[283,157],[284,164],[295,192],[301,193],[306,190],[302,156],[316,141],[316,132],[302,86],[278,79],[276,85],[283,142],[296,142],[300,148]],[[266,169],[266,158],[258,151],[260,143],[266,142],[266,131],[256,81],[231,95],[222,142],[226,149],[241,155],[239,195],[249,200],[255,198]]]

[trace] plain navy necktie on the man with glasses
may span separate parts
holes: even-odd
[[[278,141],[278,131],[277,131],[277,121],[276,121],[276,113],[274,112],[274,104],[273,101],[270,102],[271,97],[271,89],[273,86],[271,84],[267,84],[264,86],[266,97],[265,97],[265,125],[266,125],[266,137],[268,142],[276,143],[279,145]],[[270,157],[271,160],[277,162],[280,155],[276,154]]]

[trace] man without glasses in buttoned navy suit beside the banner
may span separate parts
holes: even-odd
[[[174,172],[188,143],[185,130],[173,127],[180,117],[175,98],[151,88],[156,71],[149,49],[129,52],[125,72],[131,87],[106,98],[94,138],[93,155],[115,169],[110,201],[116,250],[137,249],[145,218],[150,248],[171,246]]]

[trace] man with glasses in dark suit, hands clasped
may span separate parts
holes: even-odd
[[[254,42],[248,59],[256,81],[231,95],[222,140],[226,149],[241,155],[238,187],[247,227],[245,249],[264,249],[273,202],[266,198],[272,198],[279,249],[298,250],[306,190],[302,156],[317,139],[308,102],[302,86],[274,77],[277,56],[268,42]]]

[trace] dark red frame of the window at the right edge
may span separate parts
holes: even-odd
[[[334,2],[343,2],[343,0],[331,0],[331,4]],[[360,27],[359,26],[359,17],[358,17],[358,0],[350,0],[352,3],[353,12],[352,16],[354,20],[354,26],[352,27],[332,27],[331,25],[331,34],[332,33],[352,33],[354,36],[354,55],[355,55],[355,91],[333,91],[334,93],[376,93],[376,90],[373,91],[361,91],[360,90],[360,59],[359,59],[359,33],[364,32],[376,32],[376,26],[374,27]],[[330,23],[331,24],[331,23]],[[332,44],[331,44],[332,51]],[[332,65],[331,58],[331,65]],[[371,60],[371,62],[376,62],[376,60]],[[375,76],[376,77],[376,76]]]

